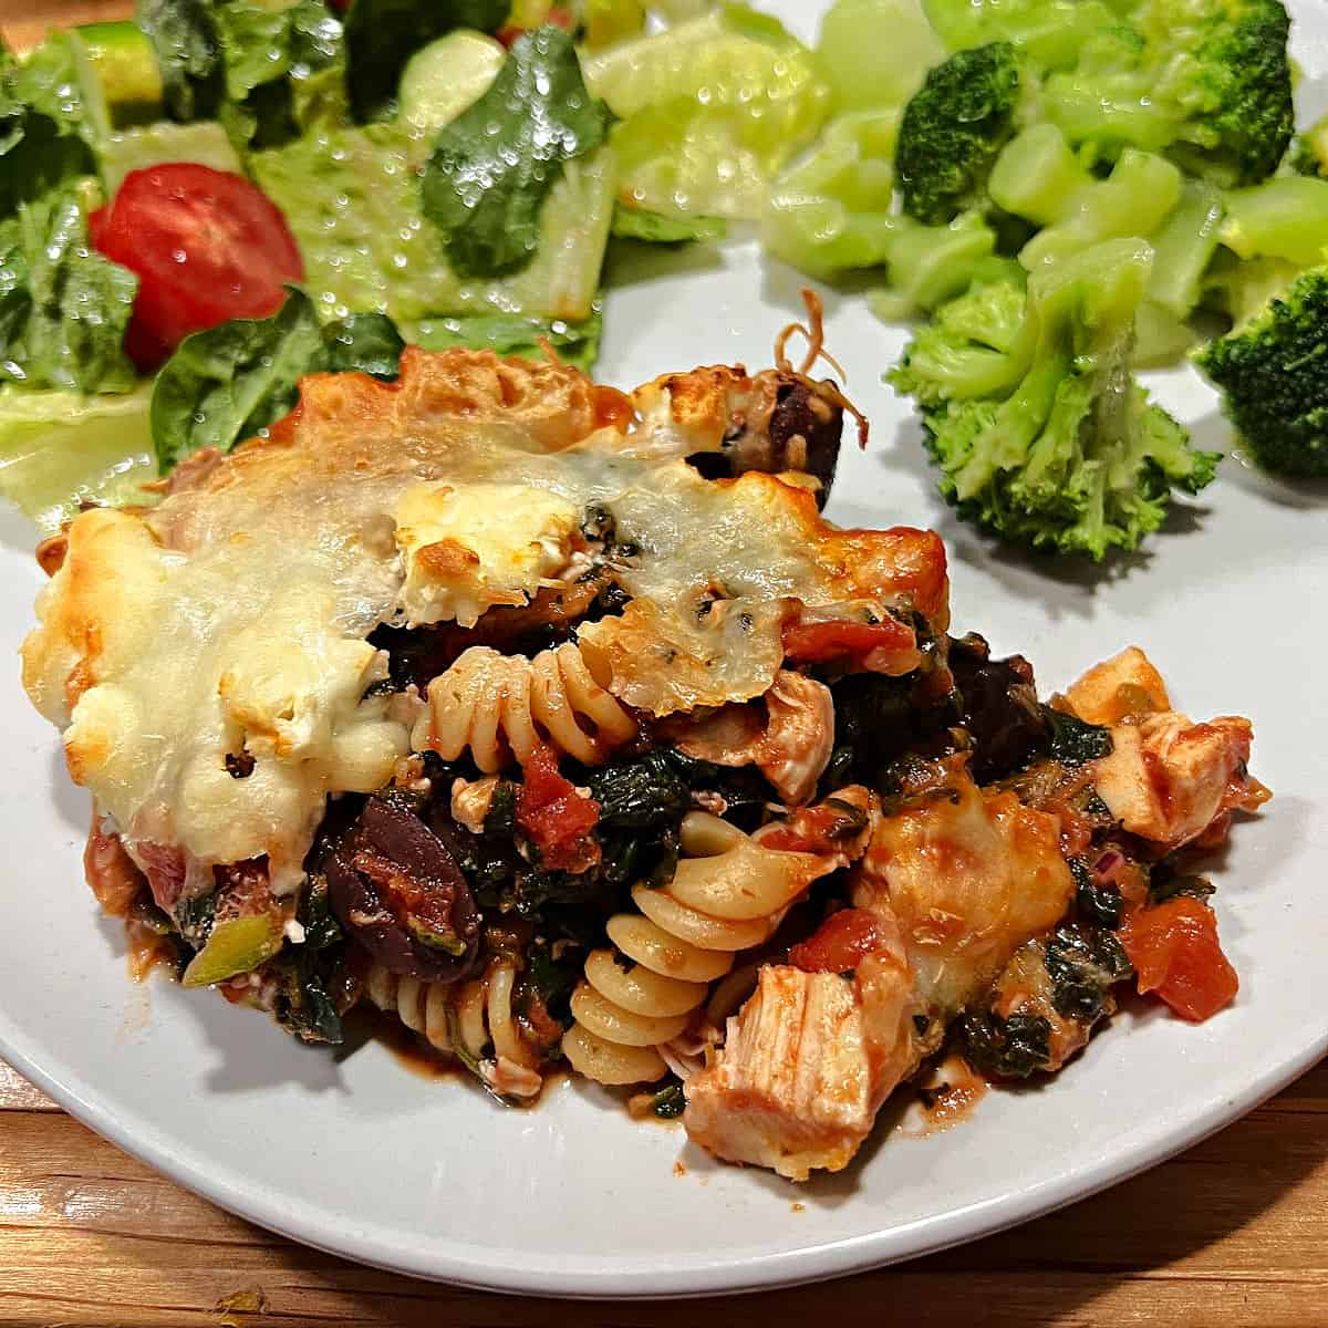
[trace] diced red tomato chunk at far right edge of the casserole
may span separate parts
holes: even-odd
[[[1189,895],[1126,915],[1120,931],[1141,992],[1157,992],[1182,1019],[1203,1023],[1235,1000],[1240,980],[1222,954],[1216,914]]]

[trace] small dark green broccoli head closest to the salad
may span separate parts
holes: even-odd
[[[904,108],[895,149],[904,212],[939,226],[981,198],[1015,133],[1019,93],[1019,58],[1008,41],[959,50],[927,74]]]

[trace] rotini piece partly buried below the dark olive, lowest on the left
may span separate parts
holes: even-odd
[[[373,964],[365,977],[369,1000],[396,1015],[445,1056],[456,1056],[499,1097],[531,1098],[543,1080],[539,1057],[513,1017],[517,969],[498,960],[469,983],[426,983]]]

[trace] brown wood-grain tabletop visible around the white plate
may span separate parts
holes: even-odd
[[[0,0],[15,46],[124,0]],[[0,1064],[0,1325],[635,1328],[721,1323],[1325,1328],[1328,1062],[1157,1170],[903,1267],[726,1301],[454,1291],[293,1246],[155,1175]]]

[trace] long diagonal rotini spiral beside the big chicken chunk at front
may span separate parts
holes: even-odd
[[[667,1044],[688,1028],[710,983],[728,973],[738,951],[766,942],[833,866],[814,854],[765,849],[704,811],[684,818],[681,845],[673,880],[632,890],[640,912],[610,919],[615,948],[590,955],[572,993],[576,1023],[563,1036],[563,1054],[600,1084],[660,1078],[669,1069]]]

